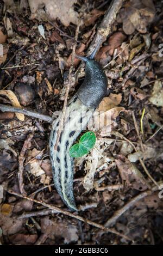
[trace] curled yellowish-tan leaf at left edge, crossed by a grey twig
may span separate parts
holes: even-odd
[[[0,95],[7,96],[9,98],[9,100],[11,101],[13,107],[21,108],[21,105],[18,102],[16,95],[11,90],[0,90]],[[18,120],[24,121],[23,114],[20,114],[20,113],[15,113],[15,114],[16,114],[16,117],[18,118]]]

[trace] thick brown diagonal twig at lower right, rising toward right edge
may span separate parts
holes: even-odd
[[[127,210],[129,210],[135,203],[137,203],[138,201],[140,201],[141,199],[147,197],[147,196],[151,196],[151,194],[158,190],[158,186],[153,187],[152,191],[151,190],[147,190],[144,192],[141,192],[138,196],[134,197],[133,199],[131,199],[126,205],[124,205],[121,209],[115,211],[114,215],[109,218],[108,221],[106,221],[105,223],[105,227],[110,227],[111,225],[114,225],[115,222],[117,221],[117,219],[124,214],[124,212],[126,212]]]

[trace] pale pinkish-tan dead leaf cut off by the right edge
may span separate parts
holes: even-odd
[[[152,96],[149,97],[149,101],[158,107],[163,107],[163,88],[161,81],[155,81]]]

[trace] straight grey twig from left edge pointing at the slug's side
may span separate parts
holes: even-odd
[[[48,123],[52,123],[52,121],[53,121],[53,118],[49,117],[48,115],[43,115],[40,113],[36,113],[34,111],[29,111],[24,108],[17,108],[17,107],[11,107],[11,106],[0,104],[0,110],[2,112],[21,113],[24,115],[28,115],[28,117],[34,117],[34,118],[38,118],[38,119],[47,121]]]

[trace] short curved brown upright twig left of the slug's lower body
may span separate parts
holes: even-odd
[[[20,153],[20,156],[18,157],[18,172],[17,172],[17,176],[18,176],[18,184],[19,184],[19,187],[20,187],[20,192],[21,194],[25,195],[26,194],[26,191],[24,190],[24,184],[23,184],[23,163],[24,163],[24,160],[25,160],[25,153],[26,153],[26,150],[28,148],[28,145],[29,145],[29,142],[31,141],[31,139],[33,138],[33,134],[30,134],[26,141],[24,141],[24,145],[23,145],[23,148],[21,150],[21,153]]]

